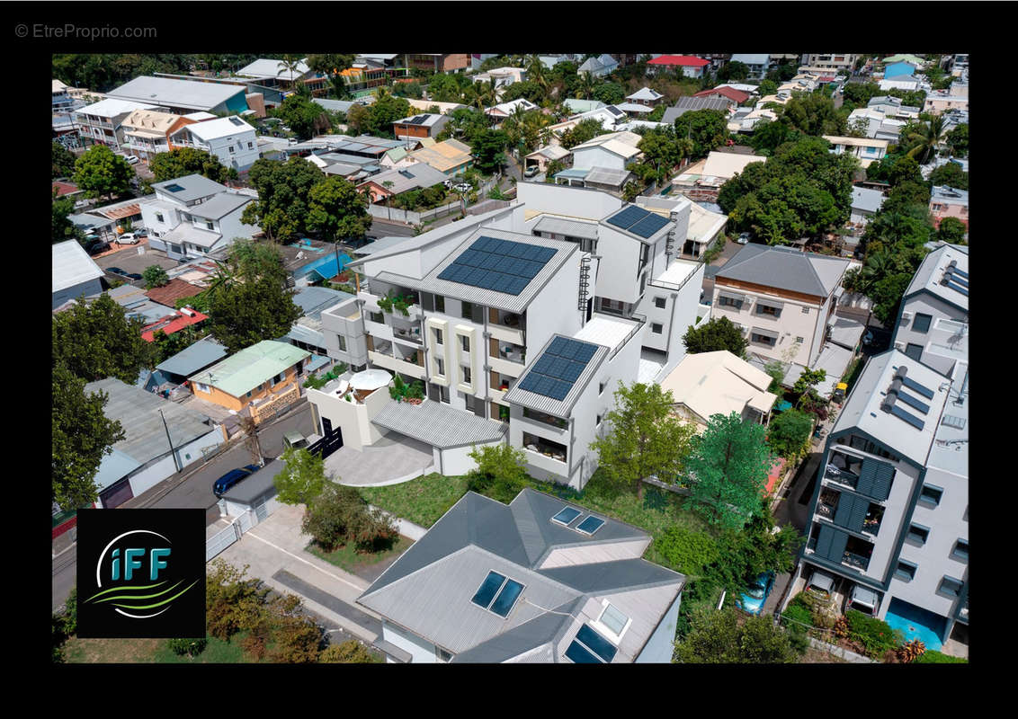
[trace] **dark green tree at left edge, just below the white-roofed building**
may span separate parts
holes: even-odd
[[[80,302],[53,315],[53,366],[62,364],[86,381],[116,377],[133,384],[142,368],[150,366],[152,348],[142,339],[144,325],[137,317],[125,318],[124,308],[106,293]]]

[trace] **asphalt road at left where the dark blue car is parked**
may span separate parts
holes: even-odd
[[[259,432],[262,442],[262,454],[266,460],[275,459],[283,453],[283,435],[297,430],[304,436],[316,432],[312,418],[310,405],[303,405],[278,420],[275,424],[265,427]],[[185,468],[166,479],[143,494],[129,499],[118,508],[202,508],[207,511],[206,524],[211,525],[219,519],[219,507],[216,495],[212,493],[213,483],[232,469],[252,463],[250,451],[243,442],[216,456],[197,471],[194,467]],[[74,531],[74,530],[72,530]],[[74,587],[76,577],[77,545],[69,548],[53,558],[53,609],[63,605],[67,595]]]

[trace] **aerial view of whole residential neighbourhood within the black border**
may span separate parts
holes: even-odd
[[[54,54],[53,661],[967,663],[968,74]]]

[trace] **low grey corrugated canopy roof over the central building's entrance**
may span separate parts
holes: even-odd
[[[432,400],[419,405],[390,402],[372,422],[441,450],[498,441],[508,429],[505,424]]]

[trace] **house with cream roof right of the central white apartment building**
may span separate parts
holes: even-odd
[[[672,393],[672,411],[702,431],[712,415],[732,412],[767,424],[778,399],[767,391],[770,384],[767,372],[721,350],[686,355],[661,381],[661,388]]]

